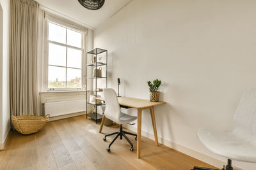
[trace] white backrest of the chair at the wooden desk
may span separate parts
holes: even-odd
[[[104,112],[105,117],[113,120],[114,122],[118,122],[121,112],[115,90],[106,88],[103,89],[103,93],[106,104],[106,110]]]

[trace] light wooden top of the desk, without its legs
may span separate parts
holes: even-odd
[[[104,101],[103,97],[95,97],[95,99]],[[133,97],[118,97],[118,102],[120,105],[128,106],[131,108],[138,108],[138,109],[150,108],[152,106],[157,106],[157,105],[166,103],[162,101],[152,102],[146,99],[137,99]]]

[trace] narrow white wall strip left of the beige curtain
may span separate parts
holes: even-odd
[[[9,28],[10,28],[10,0],[0,0],[3,9],[3,25],[0,29],[0,39],[3,42],[1,45],[1,60],[0,60],[0,147],[6,139],[10,130],[10,105],[9,105]]]

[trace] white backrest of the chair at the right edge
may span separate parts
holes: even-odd
[[[244,92],[234,115],[233,132],[256,146],[256,89]]]

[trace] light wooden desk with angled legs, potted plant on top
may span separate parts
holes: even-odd
[[[96,97],[95,99],[104,101],[104,98],[102,97]],[[156,146],[158,146],[158,139],[157,139],[157,131],[156,131],[156,118],[154,113],[154,106],[164,104],[165,102],[150,102],[145,99],[137,99],[132,97],[118,97],[118,102],[120,105],[128,106],[131,108],[136,108],[138,111],[137,116],[137,158],[140,158],[140,144],[141,144],[141,113],[144,109],[150,110],[150,115],[152,119],[152,125],[154,129],[154,136],[156,141]],[[100,124],[100,133],[102,131],[102,127],[104,125],[105,116],[102,117],[102,122]]]

